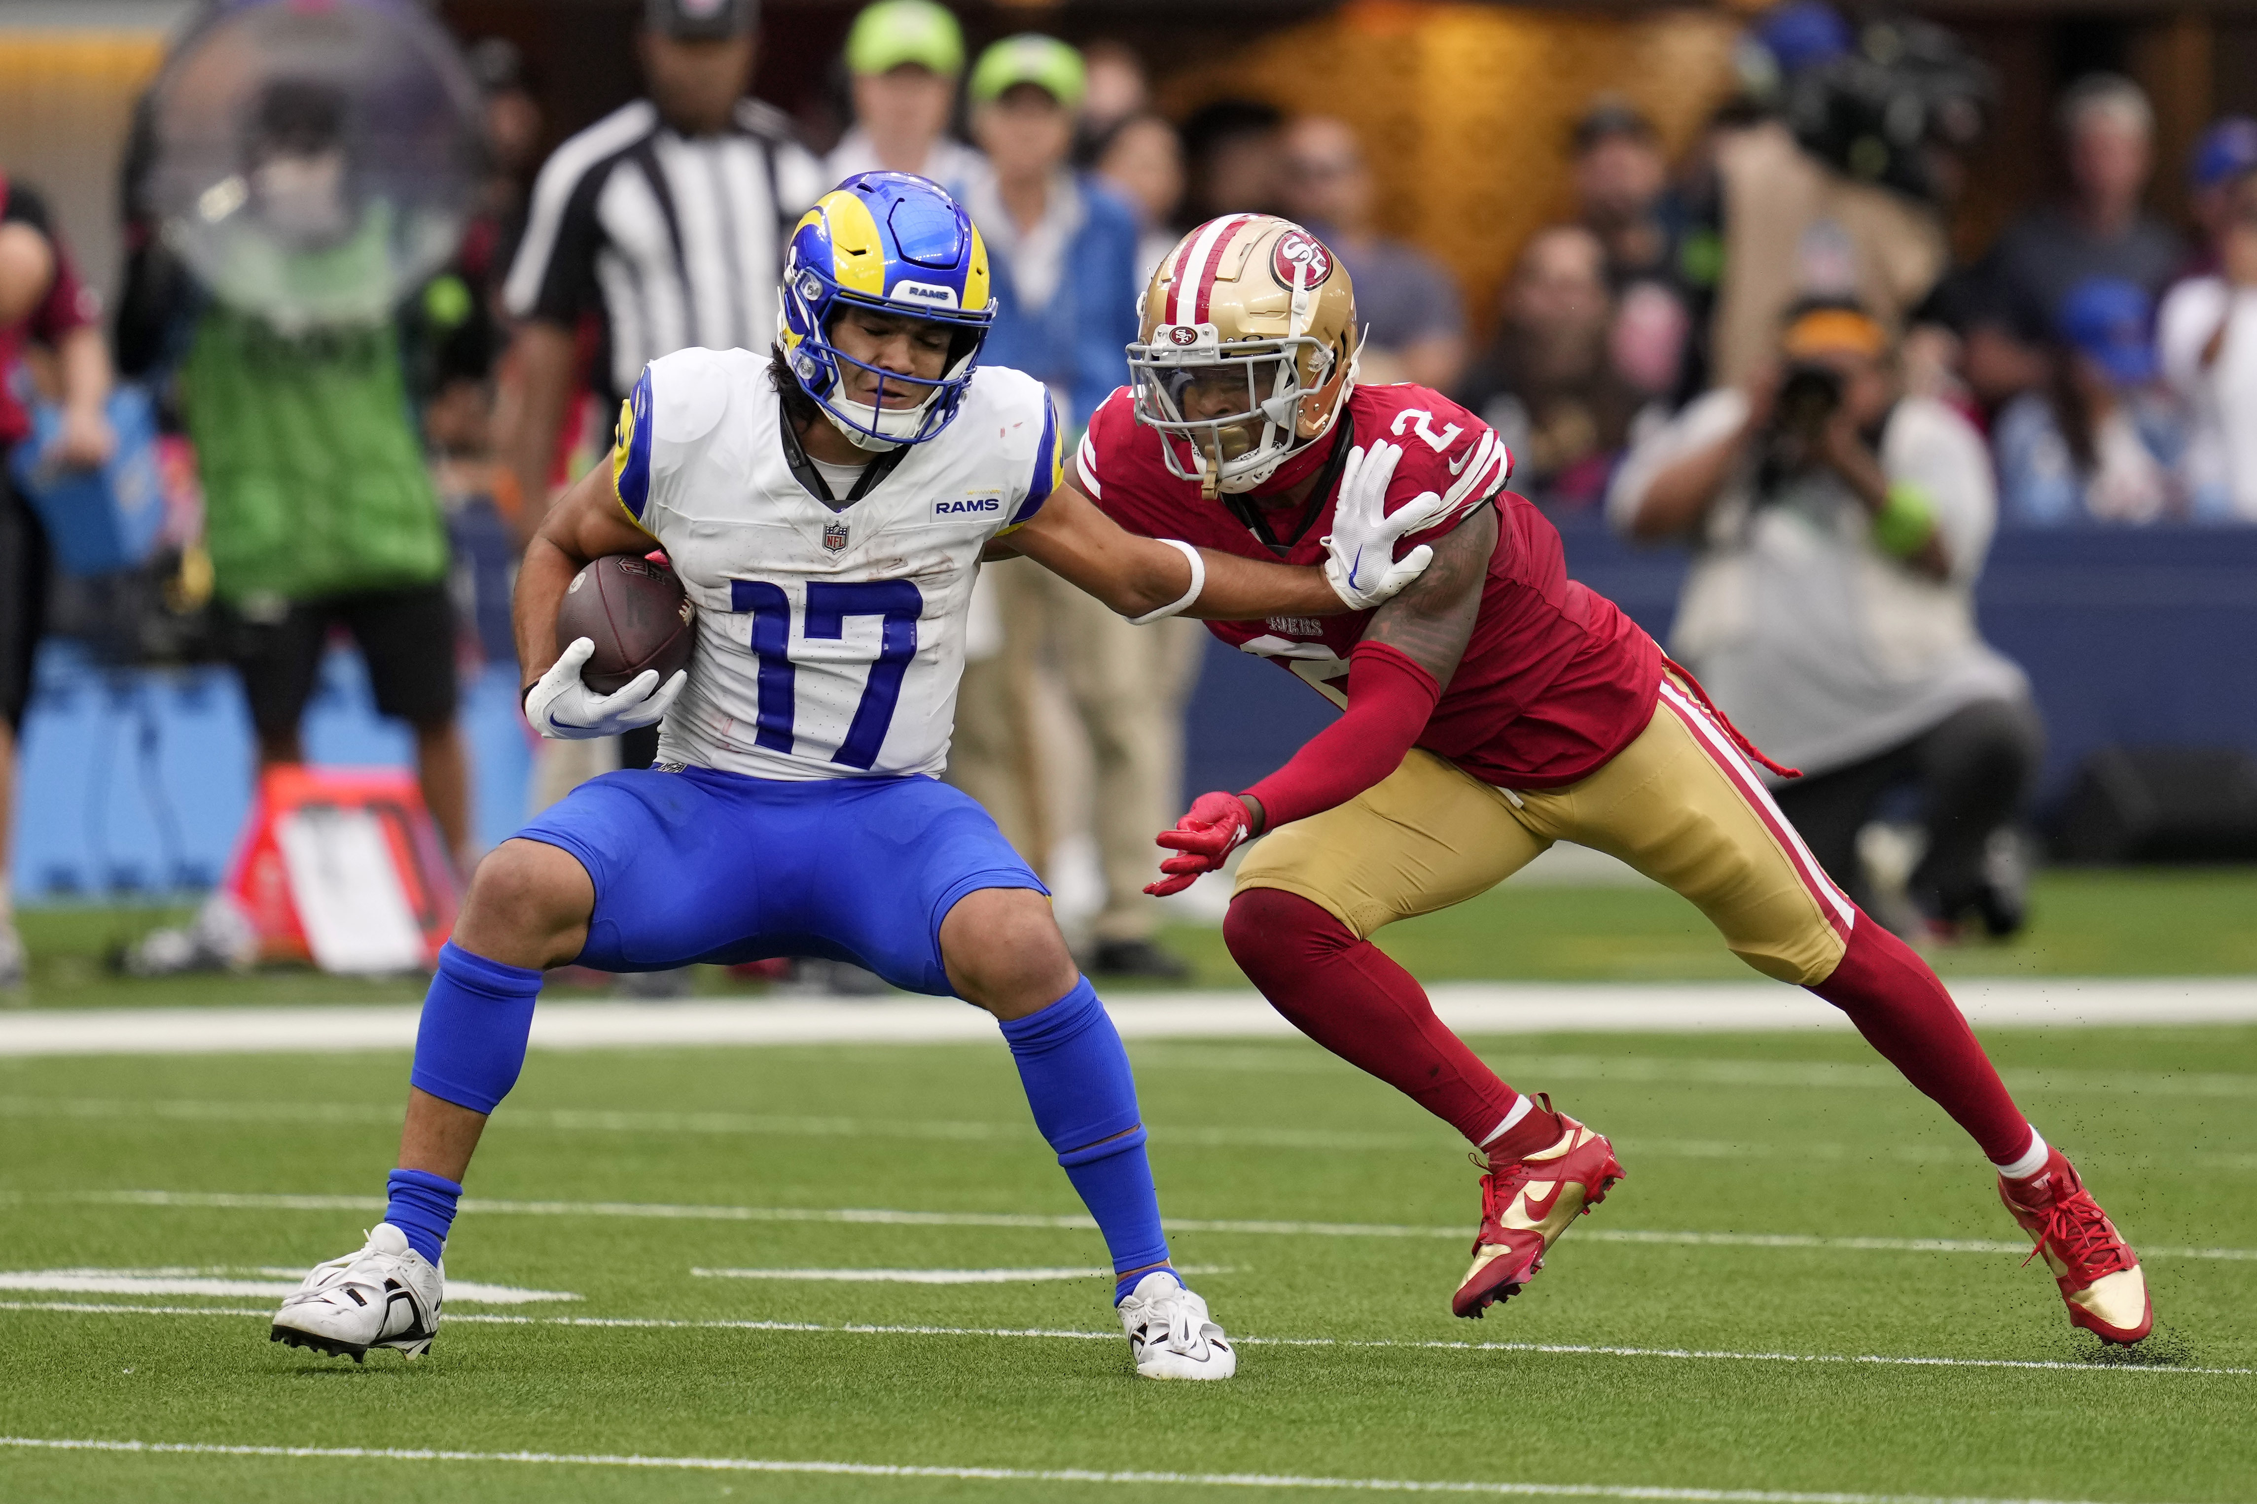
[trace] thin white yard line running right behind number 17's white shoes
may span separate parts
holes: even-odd
[[[0,1301],[0,1310],[93,1317],[257,1317],[271,1310],[219,1306],[124,1306],[95,1301]],[[623,1330],[813,1333],[840,1337],[1013,1337],[1034,1342],[1119,1342],[1119,1333],[1081,1333],[1045,1326],[878,1326],[871,1321],[731,1321],[682,1317],[497,1317],[449,1315],[478,1326],[605,1326]],[[1903,1353],[1729,1353],[1706,1348],[1632,1348],[1591,1342],[1402,1342],[1395,1337],[1232,1337],[1248,1348],[1413,1348],[1433,1353],[1542,1353],[1548,1357],[1661,1357],[1672,1362],[1790,1362],[1878,1369],[2040,1369],[2049,1373],[2187,1373],[2196,1378],[2257,1378],[2257,1369],[2203,1369],[2137,1362],[2065,1362],[2058,1357],[1921,1357]]]

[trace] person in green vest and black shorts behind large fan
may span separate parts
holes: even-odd
[[[246,124],[246,176],[318,185],[305,189],[296,219],[350,232],[363,214],[348,196],[359,149],[336,88],[278,77]],[[138,250],[117,320],[120,363],[133,377],[169,377],[185,413],[214,600],[260,767],[305,762],[305,708],[332,629],[345,629],[368,663],[377,710],[409,724],[424,803],[467,870],[469,762],[456,726],[447,530],[409,410],[390,289],[368,284],[363,320],[311,329],[217,298],[172,257],[149,216],[142,174],[153,156],[131,151],[126,162],[126,239]],[[316,241],[309,255],[323,248]],[[363,275],[384,277],[384,268]]]

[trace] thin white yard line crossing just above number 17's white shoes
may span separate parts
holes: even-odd
[[[239,1191],[68,1191],[52,1197],[81,1206],[185,1206],[199,1211],[384,1211],[379,1195],[257,1195]],[[1086,1215],[1038,1215],[1011,1211],[889,1211],[862,1206],[697,1206],[666,1202],[499,1202],[463,1197],[463,1215],[533,1218],[650,1218],[666,1222],[849,1222],[878,1227],[1018,1227],[1095,1231]],[[1246,1222],[1167,1218],[1171,1233],[1250,1233],[1280,1238],[1451,1238],[1465,1227],[1415,1227],[1404,1222]],[[1878,1254],[2029,1254],[2027,1242],[1993,1238],[1821,1238],[1817,1233],[1702,1233],[1587,1227],[1578,1242],[1657,1242],[1675,1247],[1749,1249],[1844,1249]],[[2257,1249],[2142,1247],[2142,1258],[2210,1258],[2252,1263]]]

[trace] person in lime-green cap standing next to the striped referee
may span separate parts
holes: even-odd
[[[964,32],[932,0],[878,0],[846,32],[853,126],[824,160],[824,187],[858,171],[914,171],[961,192],[980,153],[948,135]]]

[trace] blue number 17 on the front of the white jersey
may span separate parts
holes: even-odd
[[[761,661],[761,733],[754,742],[790,753],[792,719],[799,710],[792,602],[781,586],[765,580],[731,580],[729,609],[752,616],[752,654]],[[853,710],[846,740],[831,753],[840,767],[867,769],[878,760],[887,726],[894,724],[894,706],[901,701],[901,676],[916,656],[916,618],[923,611],[925,598],[910,580],[853,584],[826,580],[808,586],[808,611],[799,627],[803,638],[842,640],[846,618],[853,616],[876,616],[885,622],[878,634],[878,661],[869,665],[869,681],[862,685],[862,704]]]

